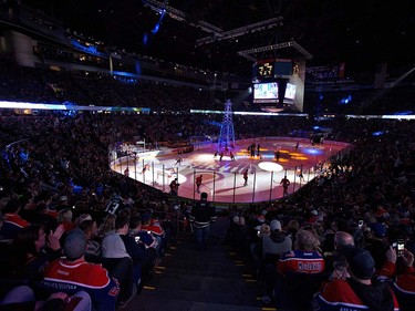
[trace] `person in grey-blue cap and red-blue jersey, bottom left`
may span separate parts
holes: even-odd
[[[72,294],[86,291],[96,311],[115,310],[120,286],[101,265],[86,262],[86,237],[81,229],[71,230],[65,237],[63,252],[66,258],[49,263],[40,288],[48,292]]]

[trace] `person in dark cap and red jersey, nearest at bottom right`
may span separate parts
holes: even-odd
[[[324,282],[314,294],[313,310],[400,310],[390,286],[373,278],[375,261],[372,255],[360,247],[350,247],[344,255],[350,277]]]

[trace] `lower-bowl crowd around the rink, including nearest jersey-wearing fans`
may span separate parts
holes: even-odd
[[[180,92],[191,105],[194,93]],[[158,96],[156,90],[153,96]],[[165,105],[160,96],[156,100]],[[259,117],[235,116],[236,138],[287,135],[312,124],[307,118]],[[125,305],[148,282],[178,230],[186,229],[193,203],[112,172],[108,146],[137,136],[152,144],[206,136],[218,132],[220,121],[185,113],[1,117],[0,302],[41,300],[46,308],[64,297],[61,300],[79,301],[84,310],[91,303],[98,310]],[[353,149],[328,159],[321,165],[323,174],[291,196],[230,207],[229,242],[255,267],[266,304],[293,303],[289,284],[313,282],[309,289],[318,292],[315,284],[326,281],[314,304],[334,310],[335,300],[345,298],[325,289],[334,281],[334,287],[345,288],[342,282],[354,276],[367,286],[374,278],[391,284],[388,301],[396,296],[402,310],[412,310],[413,122],[339,118],[322,125],[332,128],[333,139],[353,143]],[[339,240],[346,234],[356,249],[344,251],[341,260]],[[391,246],[401,240],[404,250],[397,253]],[[79,266],[96,269],[96,283],[76,279],[70,269]],[[60,267],[69,269],[65,277],[56,272]],[[301,278],[309,274],[313,278]],[[366,303],[359,296],[346,298],[342,302]],[[311,308],[311,299],[301,299],[305,305],[298,308]]]

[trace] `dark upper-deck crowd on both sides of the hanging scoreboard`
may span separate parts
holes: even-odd
[[[105,90],[105,92],[102,92]],[[387,90],[350,90],[338,92],[307,92],[304,111],[310,114],[408,114],[412,113],[413,87],[402,83]],[[19,95],[17,95],[19,94]],[[23,68],[0,61],[0,96],[7,101],[34,103],[72,103],[74,105],[148,107],[168,113],[177,111],[224,108],[228,97],[234,110],[261,111],[249,104],[246,90],[208,90],[197,85],[180,85],[142,79],[125,79],[108,73],[76,71],[62,68]],[[398,102],[398,105],[391,105]],[[309,103],[313,103],[310,105]]]

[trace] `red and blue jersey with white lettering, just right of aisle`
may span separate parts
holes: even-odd
[[[320,273],[325,268],[323,256],[315,250],[290,250],[277,262],[278,272]]]

